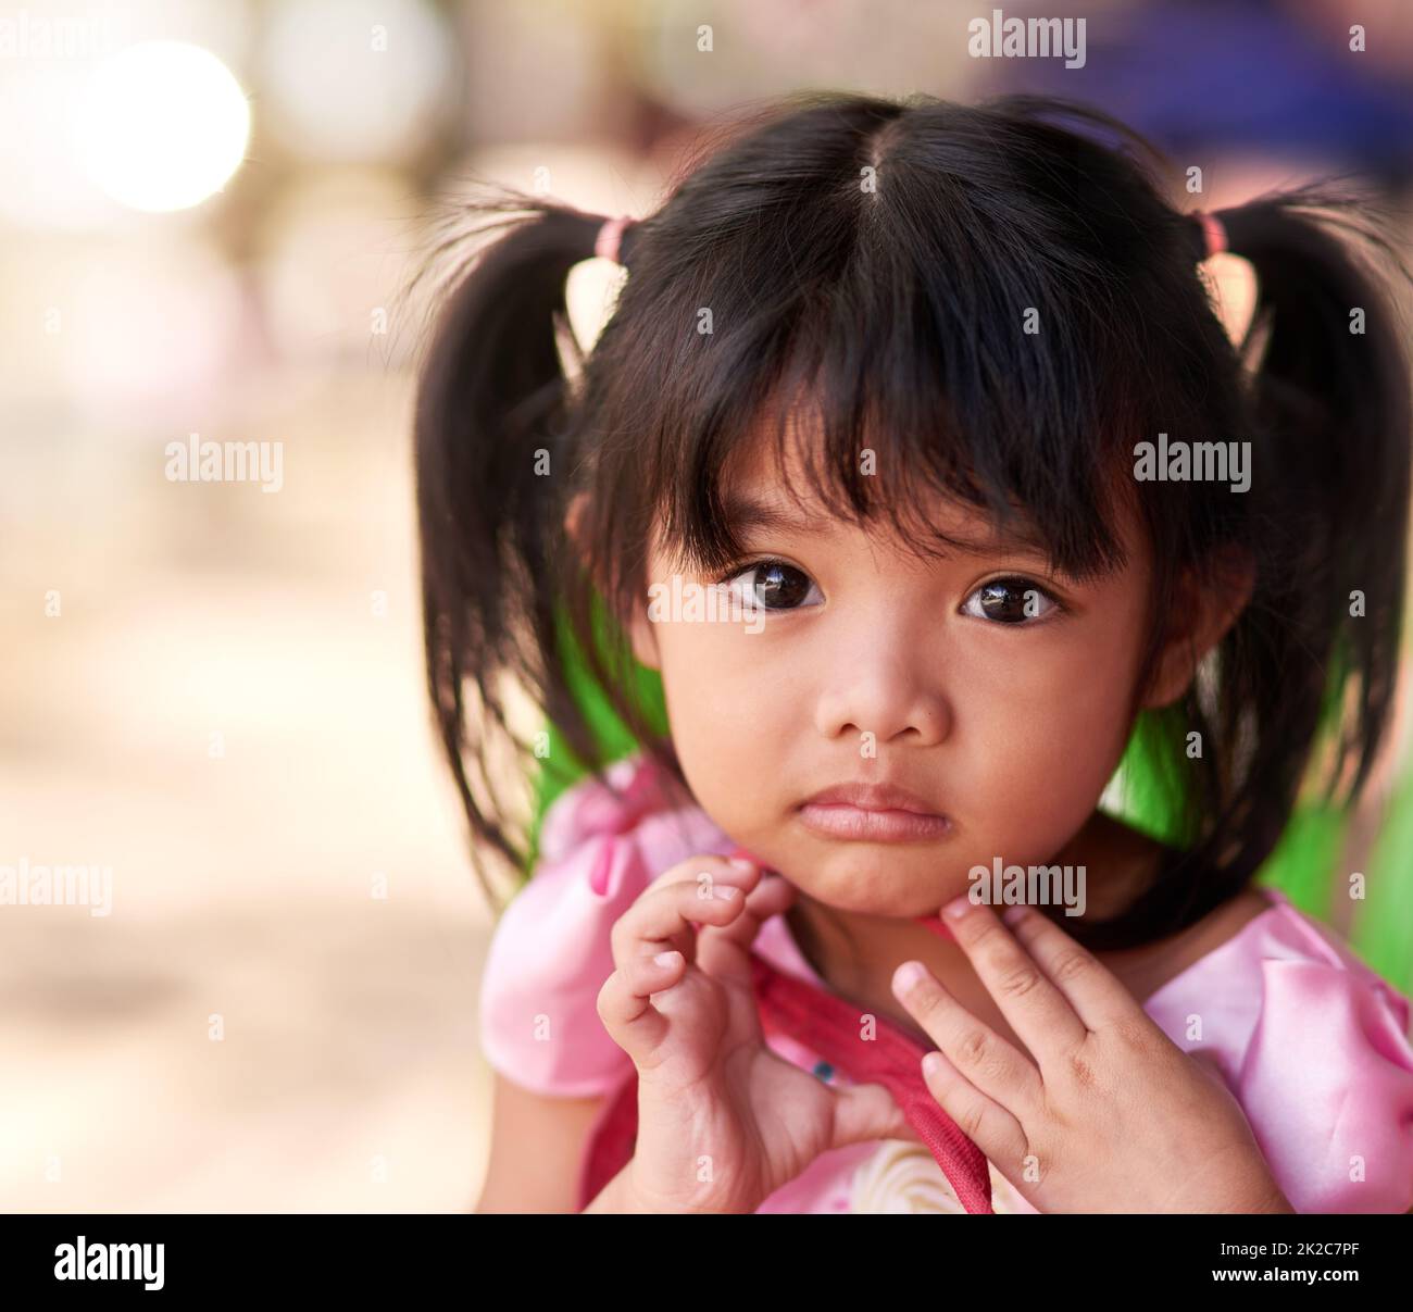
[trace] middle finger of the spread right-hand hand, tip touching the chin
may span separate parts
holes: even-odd
[[[1089,1031],[1074,1005],[995,910],[961,896],[945,912],[958,947],[1036,1060],[1044,1065],[1046,1056],[1072,1052],[1085,1041]]]

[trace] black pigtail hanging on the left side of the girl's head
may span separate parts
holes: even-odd
[[[473,844],[489,844],[523,868],[526,853],[503,820],[507,807],[496,789],[497,778],[521,776],[527,755],[507,724],[510,689],[528,693],[574,751],[591,751],[555,643],[571,464],[562,424],[569,379],[560,351],[562,342],[578,353],[565,281],[593,256],[603,218],[519,194],[473,209],[523,215],[493,225],[509,230],[480,249],[469,273],[451,279],[418,375],[427,686]],[[444,243],[432,259],[462,240]],[[520,759],[493,755],[492,728]],[[478,877],[490,896],[479,862]]]

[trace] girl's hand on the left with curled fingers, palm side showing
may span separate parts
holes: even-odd
[[[829,1148],[917,1140],[882,1084],[831,1089],[766,1046],[750,946],[793,899],[791,884],[749,861],[692,857],[613,926],[617,968],[598,1007],[637,1066],[626,1168],[637,1206],[755,1212]]]

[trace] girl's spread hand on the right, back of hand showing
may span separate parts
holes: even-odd
[[[947,910],[961,906],[959,919]],[[941,1049],[933,1097],[1041,1212],[1293,1212],[1238,1101],[1063,929],[964,896],[944,910],[1030,1049],[1017,1052],[926,968],[893,990]],[[1019,940],[1019,942],[1017,942]],[[935,1073],[927,1067],[935,1063]]]

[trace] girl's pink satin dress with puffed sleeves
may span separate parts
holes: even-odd
[[[697,853],[735,841],[699,807],[670,810],[646,756],[551,804],[534,877],[506,908],[480,984],[482,1050],[524,1089],[608,1096],[633,1063],[603,1029],[598,994],[613,973],[609,933],[639,894]],[[1186,1052],[1201,1052],[1236,1096],[1273,1175],[1297,1212],[1413,1207],[1413,1045],[1409,1000],[1284,894],[1205,957],[1169,980],[1145,1011]],[[784,916],[756,949],[776,968],[828,987]],[[1197,1035],[1195,1038],[1193,1035]],[[801,1043],[767,1038],[786,1060],[838,1083]],[[1034,1213],[991,1168],[998,1213]],[[838,1148],[777,1189],[759,1212],[955,1212],[965,1209],[928,1151],[909,1140]]]

